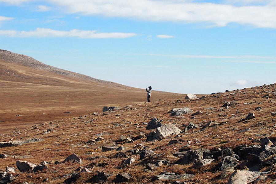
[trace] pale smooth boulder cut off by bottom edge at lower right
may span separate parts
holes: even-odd
[[[231,174],[228,184],[248,184],[259,178],[260,174],[260,172],[236,170]]]

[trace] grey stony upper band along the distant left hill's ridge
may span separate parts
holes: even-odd
[[[60,68],[57,68],[57,67],[52,67],[50,65],[41,63],[40,61],[38,61],[36,59],[33,59],[30,56],[26,56],[26,55],[23,55],[23,54],[17,54],[17,53],[2,50],[2,49],[0,49],[0,60],[1,59],[5,60],[6,62],[9,62],[9,63],[21,64],[21,65],[24,65],[26,67],[31,67],[31,68],[38,69],[38,70],[43,70],[43,71],[50,71],[50,72],[60,74],[60,75],[64,75],[64,76],[67,76],[67,77],[75,77],[75,78],[78,78],[78,79],[84,79],[84,80],[89,80],[89,81],[93,81],[93,82],[101,82],[101,83],[110,84],[110,85],[113,85],[113,86],[121,86],[121,87],[123,86],[123,85],[115,83],[115,82],[95,79],[95,78],[89,77],[87,75],[82,75],[82,74],[79,74],[79,73],[63,70],[63,69],[60,69]]]

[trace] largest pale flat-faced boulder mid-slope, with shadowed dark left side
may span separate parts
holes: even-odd
[[[167,136],[171,136],[171,135],[178,135],[181,133],[181,130],[179,128],[177,128],[175,125],[169,123],[166,125],[163,125],[161,127],[156,128],[156,132],[151,132],[148,137],[147,137],[147,141],[153,141],[156,139],[164,139]]]

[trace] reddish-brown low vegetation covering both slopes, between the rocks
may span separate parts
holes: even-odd
[[[196,168],[192,164],[174,164],[179,157],[173,156],[179,148],[191,141],[191,149],[234,148],[240,144],[259,144],[256,139],[269,137],[275,145],[275,120],[271,112],[275,112],[276,84],[259,86],[243,90],[235,90],[222,94],[207,95],[206,98],[185,100],[185,96],[163,92],[153,92],[151,103],[142,102],[145,98],[144,90],[105,86],[97,82],[84,82],[74,78],[45,71],[37,71],[17,64],[1,62],[1,140],[28,140],[35,138],[44,139],[42,142],[23,144],[17,147],[0,148],[0,153],[8,155],[1,159],[0,169],[6,166],[16,167],[17,160],[25,160],[39,164],[47,161],[49,170],[37,173],[20,173],[16,170],[16,179],[13,183],[62,183],[70,177],[69,174],[78,173],[78,167],[91,167],[91,173],[82,172],[75,183],[90,181],[98,171],[113,174],[105,183],[111,183],[116,174],[129,173],[132,179],[128,183],[152,183],[152,178],[162,171],[176,174],[195,174],[191,179],[182,179],[188,184],[192,183],[227,183],[232,172],[218,171],[216,160],[210,165]],[[4,71],[4,72],[3,72]],[[5,72],[12,72],[5,74]],[[41,83],[40,83],[41,82]],[[269,97],[263,98],[269,94]],[[159,100],[159,98],[161,100]],[[167,99],[167,100],[165,100]],[[221,107],[224,101],[234,102],[228,108]],[[122,107],[115,112],[102,113],[105,105]],[[126,105],[132,105],[125,107]],[[255,110],[257,106],[261,110]],[[192,118],[191,114],[172,117],[168,113],[172,108],[189,107],[194,112],[202,111]],[[64,114],[71,111],[70,114]],[[98,112],[98,115],[93,115]],[[45,113],[44,115],[42,113]],[[255,118],[240,121],[248,113],[254,113]],[[17,114],[22,116],[16,117]],[[82,115],[81,117],[79,117]],[[74,118],[72,118],[74,116]],[[121,136],[136,137],[140,132],[148,135],[153,130],[146,130],[144,122],[149,122],[157,117],[162,124],[173,123],[182,131],[189,122],[197,128],[181,133],[180,137],[169,136],[163,140],[146,142],[146,138],[134,140],[132,143],[116,143]],[[52,122],[50,122],[52,120]],[[37,121],[44,121],[37,123]],[[212,121],[214,126],[201,129]],[[220,124],[221,123],[221,124]],[[23,126],[24,125],[24,126]],[[250,128],[250,129],[247,129]],[[243,131],[246,130],[247,131]],[[49,133],[45,133],[45,132]],[[100,135],[99,135],[100,134]],[[102,136],[104,140],[85,144]],[[180,141],[178,144],[168,145],[171,139]],[[180,140],[181,139],[181,140]],[[182,142],[181,142],[182,141]],[[160,160],[167,160],[169,165],[157,167],[152,172],[146,172],[147,162],[139,160],[140,155],[131,154],[135,145],[143,144],[160,154]],[[123,152],[135,159],[127,167],[121,167],[125,158],[112,158],[118,151],[102,152],[102,146],[121,146]],[[89,152],[94,154],[89,155]],[[55,165],[56,160],[62,162],[67,156],[77,154],[83,163],[66,162]],[[105,156],[95,160],[89,157]],[[272,155],[276,156],[276,155]],[[109,158],[106,158],[109,157]],[[269,158],[268,158],[269,159]],[[260,171],[267,171],[266,181],[275,180],[275,164],[263,167]],[[223,177],[224,176],[224,177]],[[155,181],[155,183],[171,183],[172,181]]]

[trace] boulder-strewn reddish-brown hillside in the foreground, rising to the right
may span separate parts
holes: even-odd
[[[276,183],[276,84],[1,135],[2,183]]]

